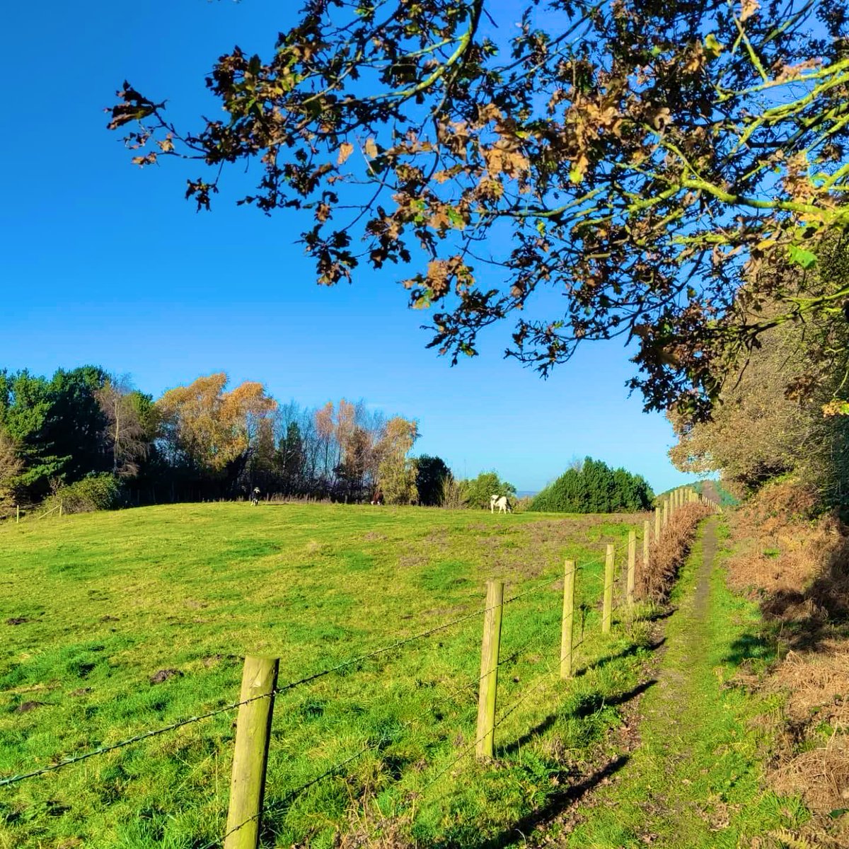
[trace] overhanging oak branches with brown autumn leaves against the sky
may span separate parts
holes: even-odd
[[[543,374],[618,335],[647,408],[700,414],[775,323],[844,321],[846,285],[760,270],[811,267],[849,223],[845,0],[526,0],[514,22],[495,0],[306,0],[265,56],[217,59],[222,118],[177,127],[125,82],[109,126],[139,166],[196,160],[199,208],[256,163],[239,203],[300,210],[319,283],[398,266],[453,362],[499,322]]]

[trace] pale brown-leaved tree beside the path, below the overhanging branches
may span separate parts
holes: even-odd
[[[790,290],[801,273],[775,268]],[[824,261],[804,281],[809,292],[834,288],[830,279],[845,279],[841,263]],[[766,304],[763,314],[778,312]],[[720,396],[722,403],[707,422],[693,422],[671,411],[678,436],[670,458],[678,469],[704,474],[721,471],[738,496],[756,492],[776,477],[793,475],[817,494],[824,506],[846,506],[849,474],[849,419],[835,401],[846,380],[849,327],[822,316],[804,324],[779,323],[762,334],[760,345]],[[821,351],[832,351],[823,363]]]

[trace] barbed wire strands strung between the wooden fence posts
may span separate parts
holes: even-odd
[[[628,547],[628,543],[622,543],[619,547],[614,549],[614,562],[615,563],[617,562],[617,560],[619,559],[621,554],[627,549],[627,547]],[[574,576],[579,571],[591,570],[593,566],[597,566],[599,564],[604,563],[606,559],[607,559],[607,555],[605,554],[605,555],[602,555],[598,558],[587,560],[587,561],[582,561],[580,563],[573,560],[572,561],[573,562],[573,569],[572,569],[571,575]],[[601,588],[603,590],[606,589],[607,583],[606,583],[606,578],[605,578],[604,572],[600,573],[600,574],[597,573],[597,572],[592,573],[592,574],[593,574],[593,577],[600,578]],[[535,593],[542,593],[544,591],[548,591],[551,588],[554,588],[554,586],[557,583],[562,582],[563,580],[564,580],[563,574],[556,576],[554,578],[547,578],[543,582],[538,582],[538,583],[534,584],[533,586],[531,586],[529,588],[521,590],[518,593],[514,593],[508,599],[503,599],[501,604],[495,604],[495,605],[488,606],[488,607],[485,606],[485,607],[477,608],[477,609],[472,610],[471,612],[469,612],[467,614],[464,614],[463,616],[458,616],[458,617],[456,617],[452,620],[442,622],[441,624],[439,624],[435,627],[427,628],[424,631],[421,631],[419,633],[415,633],[415,634],[410,635],[408,637],[397,639],[396,641],[392,642],[391,644],[381,646],[380,648],[374,649],[373,651],[369,651],[369,652],[364,653],[362,655],[356,655],[354,657],[347,659],[346,661],[342,661],[342,662],[337,663],[333,666],[327,666],[327,667],[319,670],[318,672],[312,672],[312,673],[305,675],[301,678],[297,678],[293,681],[275,686],[271,691],[264,693],[264,694],[261,694],[261,695],[257,695],[253,698],[236,701],[236,702],[230,703],[230,704],[225,705],[225,706],[217,707],[217,708],[210,710],[210,711],[205,711],[203,713],[199,713],[199,714],[192,716],[192,717],[186,717],[186,718],[179,720],[177,722],[171,722],[167,725],[161,726],[160,728],[154,728],[154,729],[150,729],[150,730],[147,730],[147,731],[143,731],[139,734],[135,734],[132,737],[129,737],[127,739],[122,739],[122,740],[117,741],[115,743],[111,743],[111,744],[108,744],[108,745],[100,745],[100,746],[98,746],[98,747],[96,747],[92,750],[84,751],[80,754],[65,756],[65,757],[60,758],[58,761],[51,763],[51,764],[48,764],[47,766],[44,766],[44,767],[38,767],[38,768],[35,768],[35,769],[31,769],[30,771],[27,771],[27,772],[24,772],[24,773],[10,775],[6,778],[0,779],[0,787],[7,787],[9,785],[18,784],[18,783],[25,781],[27,779],[35,779],[38,776],[42,776],[46,773],[53,773],[53,772],[55,772],[59,769],[62,769],[64,767],[68,767],[72,764],[82,762],[82,761],[86,761],[89,758],[93,758],[95,756],[100,756],[100,755],[105,755],[105,754],[107,754],[111,751],[123,749],[126,746],[140,743],[143,740],[151,739],[151,738],[154,738],[156,736],[159,736],[160,734],[166,734],[168,732],[175,731],[178,728],[183,728],[184,726],[191,725],[191,724],[194,724],[196,722],[202,722],[206,719],[210,719],[211,717],[216,717],[216,716],[219,716],[223,713],[227,713],[228,711],[238,710],[239,708],[241,708],[243,706],[249,705],[251,702],[254,702],[254,701],[257,701],[257,700],[262,700],[262,699],[268,699],[268,698],[271,698],[274,695],[284,694],[284,693],[290,692],[291,690],[293,690],[295,688],[306,685],[307,683],[312,683],[312,682],[318,681],[319,679],[325,678],[325,677],[327,677],[327,676],[329,676],[329,675],[331,675],[335,672],[340,672],[341,670],[346,669],[346,668],[351,667],[351,666],[357,666],[357,665],[362,664],[365,661],[368,661],[368,660],[370,660],[374,657],[389,654],[389,653],[395,651],[396,649],[400,649],[403,646],[406,646],[408,644],[413,644],[414,642],[417,642],[419,640],[429,638],[430,636],[432,636],[434,634],[445,632],[448,629],[450,629],[452,627],[456,627],[456,626],[458,626],[458,625],[460,625],[464,622],[471,621],[471,620],[476,619],[480,616],[485,616],[487,613],[491,612],[492,610],[497,609],[498,607],[503,608],[503,607],[505,607],[509,604],[514,604],[515,602],[517,602],[520,599],[526,599],[527,597],[529,597],[529,596],[531,596]],[[618,582],[616,581],[616,577],[614,577],[614,588],[616,588],[617,584],[618,584]],[[621,608],[621,605],[623,604],[624,598],[625,598],[624,593],[621,593],[621,592],[617,593],[616,604],[613,608],[614,610]],[[582,612],[584,614],[586,613],[586,606],[587,606],[586,604],[582,604],[579,608],[580,610],[582,610]],[[568,649],[570,656],[571,656],[571,653],[575,649],[577,649],[578,647],[580,647],[582,644],[584,644],[586,642],[587,638],[584,636],[583,629],[584,629],[584,626],[583,626],[583,621],[582,621],[582,636],[581,636],[581,639],[579,639],[577,642],[574,641],[574,639],[571,641],[571,648]],[[503,660],[498,661],[497,662],[497,669],[501,668],[503,666],[508,666],[510,664],[516,663],[518,661],[518,659],[520,658],[520,656],[525,655],[526,652],[528,651],[528,649],[531,649],[531,647],[533,647],[535,649],[542,649],[543,644],[550,643],[550,641],[551,641],[551,635],[550,634],[545,634],[545,633],[534,634],[534,636],[532,636],[529,640],[526,640],[523,644],[521,644],[520,647],[518,647],[517,649],[512,649],[511,651],[509,651],[507,653],[507,655],[505,655]],[[545,653],[543,653],[542,656],[543,656],[543,659],[544,659],[547,655],[545,655]],[[490,728],[486,731],[486,736],[488,736],[489,734],[492,734],[494,732],[495,728],[500,727],[503,724],[503,722],[505,722],[510,716],[512,716],[514,714],[515,711],[517,711],[520,708],[520,706],[526,704],[527,700],[531,699],[531,697],[533,697],[535,694],[541,692],[546,684],[550,684],[552,682],[552,680],[558,675],[560,663],[562,663],[565,660],[565,656],[566,655],[561,655],[559,657],[560,662],[558,664],[558,668],[554,669],[554,670],[550,667],[548,661],[544,661],[546,666],[548,666],[547,671],[543,672],[543,674],[540,675],[537,678],[535,683],[531,684],[530,687],[526,688],[524,690],[523,694],[521,694],[519,699],[515,700],[512,705],[510,705],[509,707],[507,707],[506,709],[504,709],[503,711],[500,712],[498,717],[496,717],[495,721],[493,722],[492,728]],[[469,682],[462,684],[458,688],[450,689],[449,693],[453,694],[453,695],[457,695],[457,694],[463,694],[463,693],[465,693],[469,690],[475,689],[476,687],[481,685],[481,682],[491,674],[492,674],[492,670],[489,670],[487,672],[484,672],[481,675],[477,675],[477,676],[475,676],[475,678],[472,678],[471,680],[469,680]],[[418,796],[421,796],[427,790],[430,790],[430,788],[434,784],[436,784],[436,782],[439,779],[441,779],[441,777],[443,775],[445,775],[447,772],[449,772],[454,767],[456,767],[458,765],[458,763],[461,762],[464,759],[465,756],[469,755],[469,753],[473,749],[475,749],[475,747],[479,743],[481,743],[481,740],[483,740],[483,739],[485,739],[485,738],[484,737],[478,737],[477,739],[475,739],[469,745],[464,746],[463,750],[459,752],[458,756],[453,758],[453,760],[451,762],[449,762],[446,767],[441,768],[436,773],[436,775],[432,779],[430,779],[430,781],[427,784],[424,784],[424,787],[421,790],[418,791]],[[293,801],[295,801],[295,799],[298,796],[301,795],[301,793],[308,790],[313,785],[318,784],[318,782],[322,781],[323,779],[328,779],[329,777],[331,777],[333,775],[339,774],[340,771],[343,769],[343,767],[346,767],[351,762],[356,761],[357,759],[362,757],[364,754],[366,754],[366,752],[368,752],[370,750],[380,751],[382,748],[385,748],[385,745],[386,745],[385,739],[381,739],[381,740],[377,741],[376,743],[368,742],[366,745],[364,745],[361,749],[359,749],[357,752],[355,752],[351,756],[348,756],[348,757],[344,758],[343,760],[341,760],[340,762],[335,763],[332,767],[329,767],[329,769],[325,770],[323,773],[319,774],[318,776],[315,776],[312,779],[308,780],[306,783],[301,784],[300,786],[296,787],[293,790],[287,791],[286,794],[282,798],[277,799],[276,801],[273,801],[271,804],[263,807],[260,812],[252,815],[250,818],[245,819],[243,822],[237,824],[233,828],[228,829],[228,831],[226,832],[225,835],[222,836],[222,838],[217,839],[216,841],[212,841],[211,843],[204,846],[203,849],[213,849],[213,847],[215,847],[215,846],[221,846],[223,841],[225,841],[228,838],[229,835],[232,835],[235,831],[238,831],[239,829],[245,828],[246,825],[250,824],[252,821],[256,820],[257,818],[260,818],[263,814],[284,812],[286,810],[286,808],[289,807],[291,805],[291,803]]]

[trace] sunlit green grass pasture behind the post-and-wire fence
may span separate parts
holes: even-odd
[[[499,716],[518,706],[492,763],[457,760],[474,743],[481,616],[274,708],[265,845],[521,842],[638,690],[649,623],[602,638],[597,603],[604,543],[641,518],[222,503],[7,523],[0,778],[237,700],[245,653],[279,656],[286,683],[480,609],[487,578],[509,596],[556,579],[565,557],[594,560],[577,577],[570,683],[560,584],[505,607]],[[220,845],[233,718],[0,787],[0,846]]]

